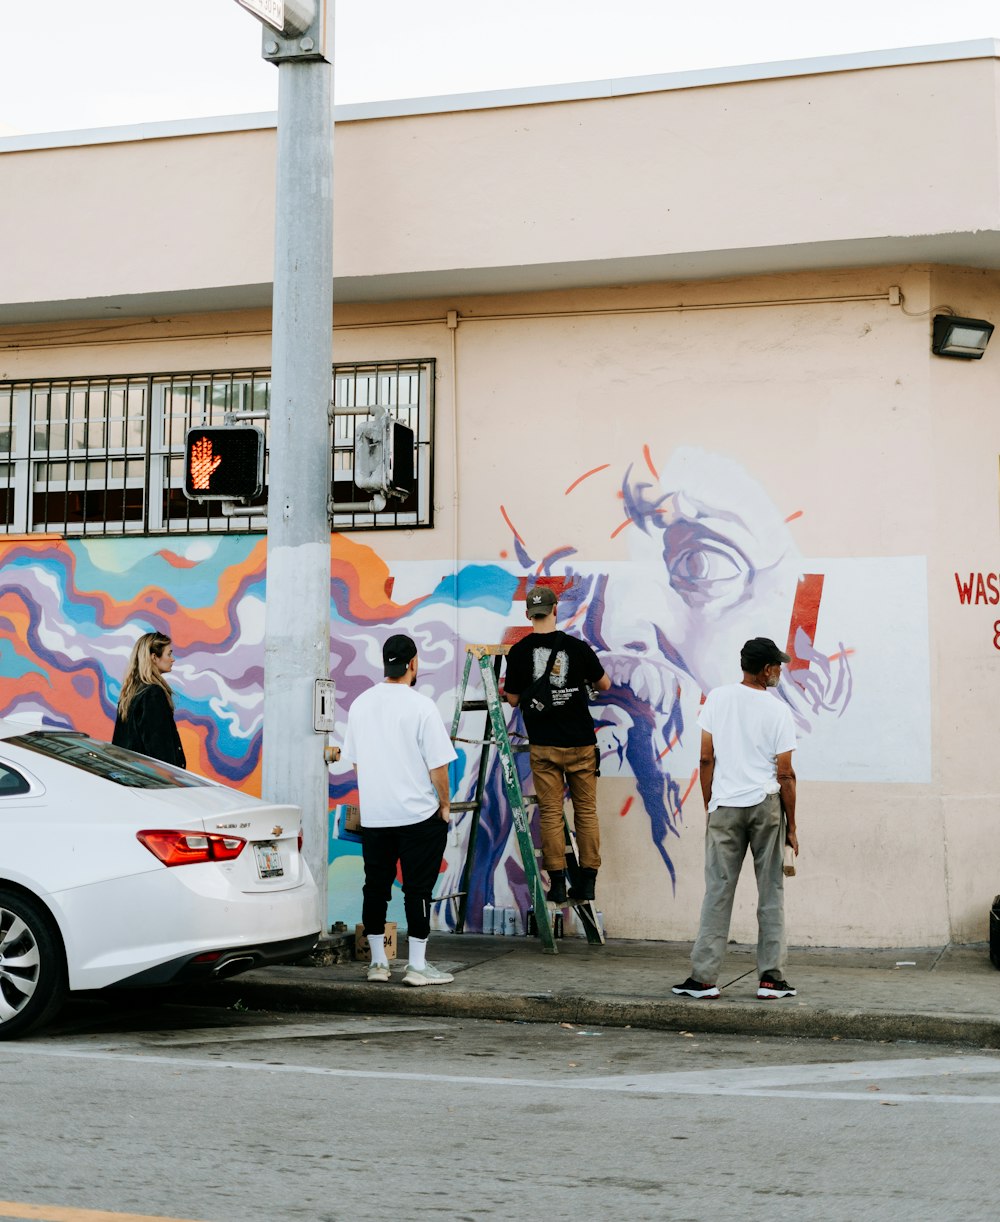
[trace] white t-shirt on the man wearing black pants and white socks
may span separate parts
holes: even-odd
[[[403,683],[377,683],[347,712],[342,756],[358,775],[362,827],[402,827],[436,813],[429,770],[455,748],[433,700]]]

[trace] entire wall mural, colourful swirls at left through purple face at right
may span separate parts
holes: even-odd
[[[749,637],[773,637],[792,655],[778,695],[800,730],[801,776],[923,778],[929,689],[921,676],[922,557],[803,560],[791,523],[798,514],[786,518],[738,463],[702,450],[676,450],[661,469],[644,451],[623,472],[600,467],[576,479],[571,473],[567,485],[571,508],[598,491],[616,506],[608,534],[627,541],[626,560],[601,561],[593,547],[584,554],[565,538],[542,541],[539,552],[537,513],[529,550],[513,525],[516,505],[498,506],[511,524],[509,555],[445,576],[447,561],[394,563],[390,571],[377,540],[334,536],[339,737],[351,701],[381,679],[381,643],[391,632],[417,642],[417,686],[450,723],[465,644],[527,631],[524,593],[544,576],[561,591],[559,626],[594,646],[612,681],[593,705],[601,775],[633,778],[638,800],[627,798],[619,813],[648,824],[649,868],[663,874],[667,893],[676,876],[671,842],[682,831],[697,780],[697,711],[705,692],[738,679],[740,646]],[[527,517],[531,506],[522,508]],[[263,539],[11,540],[0,544],[0,712],[110,737],[132,642],[150,629],[165,632],[178,656],[170,682],[189,766],[259,792]],[[894,620],[891,637],[873,627],[869,609],[879,600],[910,609]],[[914,673],[912,690],[899,690]],[[873,727],[884,721],[879,693],[891,688],[890,677],[899,731],[886,754],[873,744]],[[511,727],[515,734],[522,728],[517,712]],[[458,743],[457,749],[452,793],[460,800],[474,786],[478,748]],[[518,766],[529,791],[526,755]],[[351,924],[361,913],[362,864],[359,842],[336,818],[337,808],[356,800],[346,766],[331,770],[330,798],[330,919]],[[467,833],[463,816],[449,842],[443,891],[457,890]],[[477,927],[488,901],[522,910],[527,902],[495,767],[477,842],[469,927]],[[402,920],[399,897],[390,919]],[[449,919],[439,913],[439,921]]]

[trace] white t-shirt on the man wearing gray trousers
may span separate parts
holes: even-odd
[[[795,750],[795,722],[786,704],[770,692],[730,683],[709,692],[698,725],[715,748],[709,811],[756,807],[778,793],[776,756]]]

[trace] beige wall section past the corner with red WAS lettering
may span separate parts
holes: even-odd
[[[936,268],[929,298],[934,304],[960,301],[969,316],[996,318],[996,291],[995,274]],[[985,358],[973,365],[979,368],[934,360],[929,385],[930,623],[938,677],[934,772],[956,941],[985,936],[983,907],[995,891],[991,846],[1000,810],[993,743],[1000,667],[1000,607],[994,593],[1000,568],[994,562],[1000,552],[1000,371]],[[973,371],[980,376],[971,376]],[[962,600],[960,583],[971,584],[971,601]]]

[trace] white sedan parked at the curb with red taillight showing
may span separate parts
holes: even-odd
[[[307,953],[297,807],[87,734],[0,720],[0,1040],[70,990],[233,975]]]

